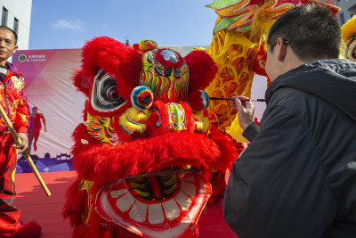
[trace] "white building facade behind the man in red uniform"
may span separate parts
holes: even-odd
[[[28,50],[32,0],[0,0],[0,24],[18,35],[19,50]]]

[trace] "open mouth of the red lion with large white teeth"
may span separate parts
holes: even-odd
[[[95,209],[135,234],[179,237],[195,227],[210,194],[210,184],[197,170],[174,170],[105,185]]]

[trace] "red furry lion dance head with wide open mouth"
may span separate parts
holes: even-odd
[[[77,180],[63,211],[74,237],[196,237],[211,168],[237,158],[206,118],[210,56],[148,48],[109,37],[83,48],[74,84],[85,122],[73,133]]]

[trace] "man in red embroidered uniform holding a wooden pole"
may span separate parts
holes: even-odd
[[[17,35],[12,29],[0,26],[0,104],[12,126],[20,136],[22,144],[15,140],[0,119],[0,237],[37,237],[41,227],[36,222],[22,225],[20,209],[13,204],[15,200],[14,175],[17,163],[17,149],[20,153],[28,150],[28,103],[23,90],[23,75],[7,59],[15,53],[18,46]]]

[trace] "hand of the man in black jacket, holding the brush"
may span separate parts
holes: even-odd
[[[247,99],[240,101],[240,99]],[[245,129],[254,119],[255,106],[246,96],[233,96],[230,101],[231,106],[238,110],[239,126]]]

